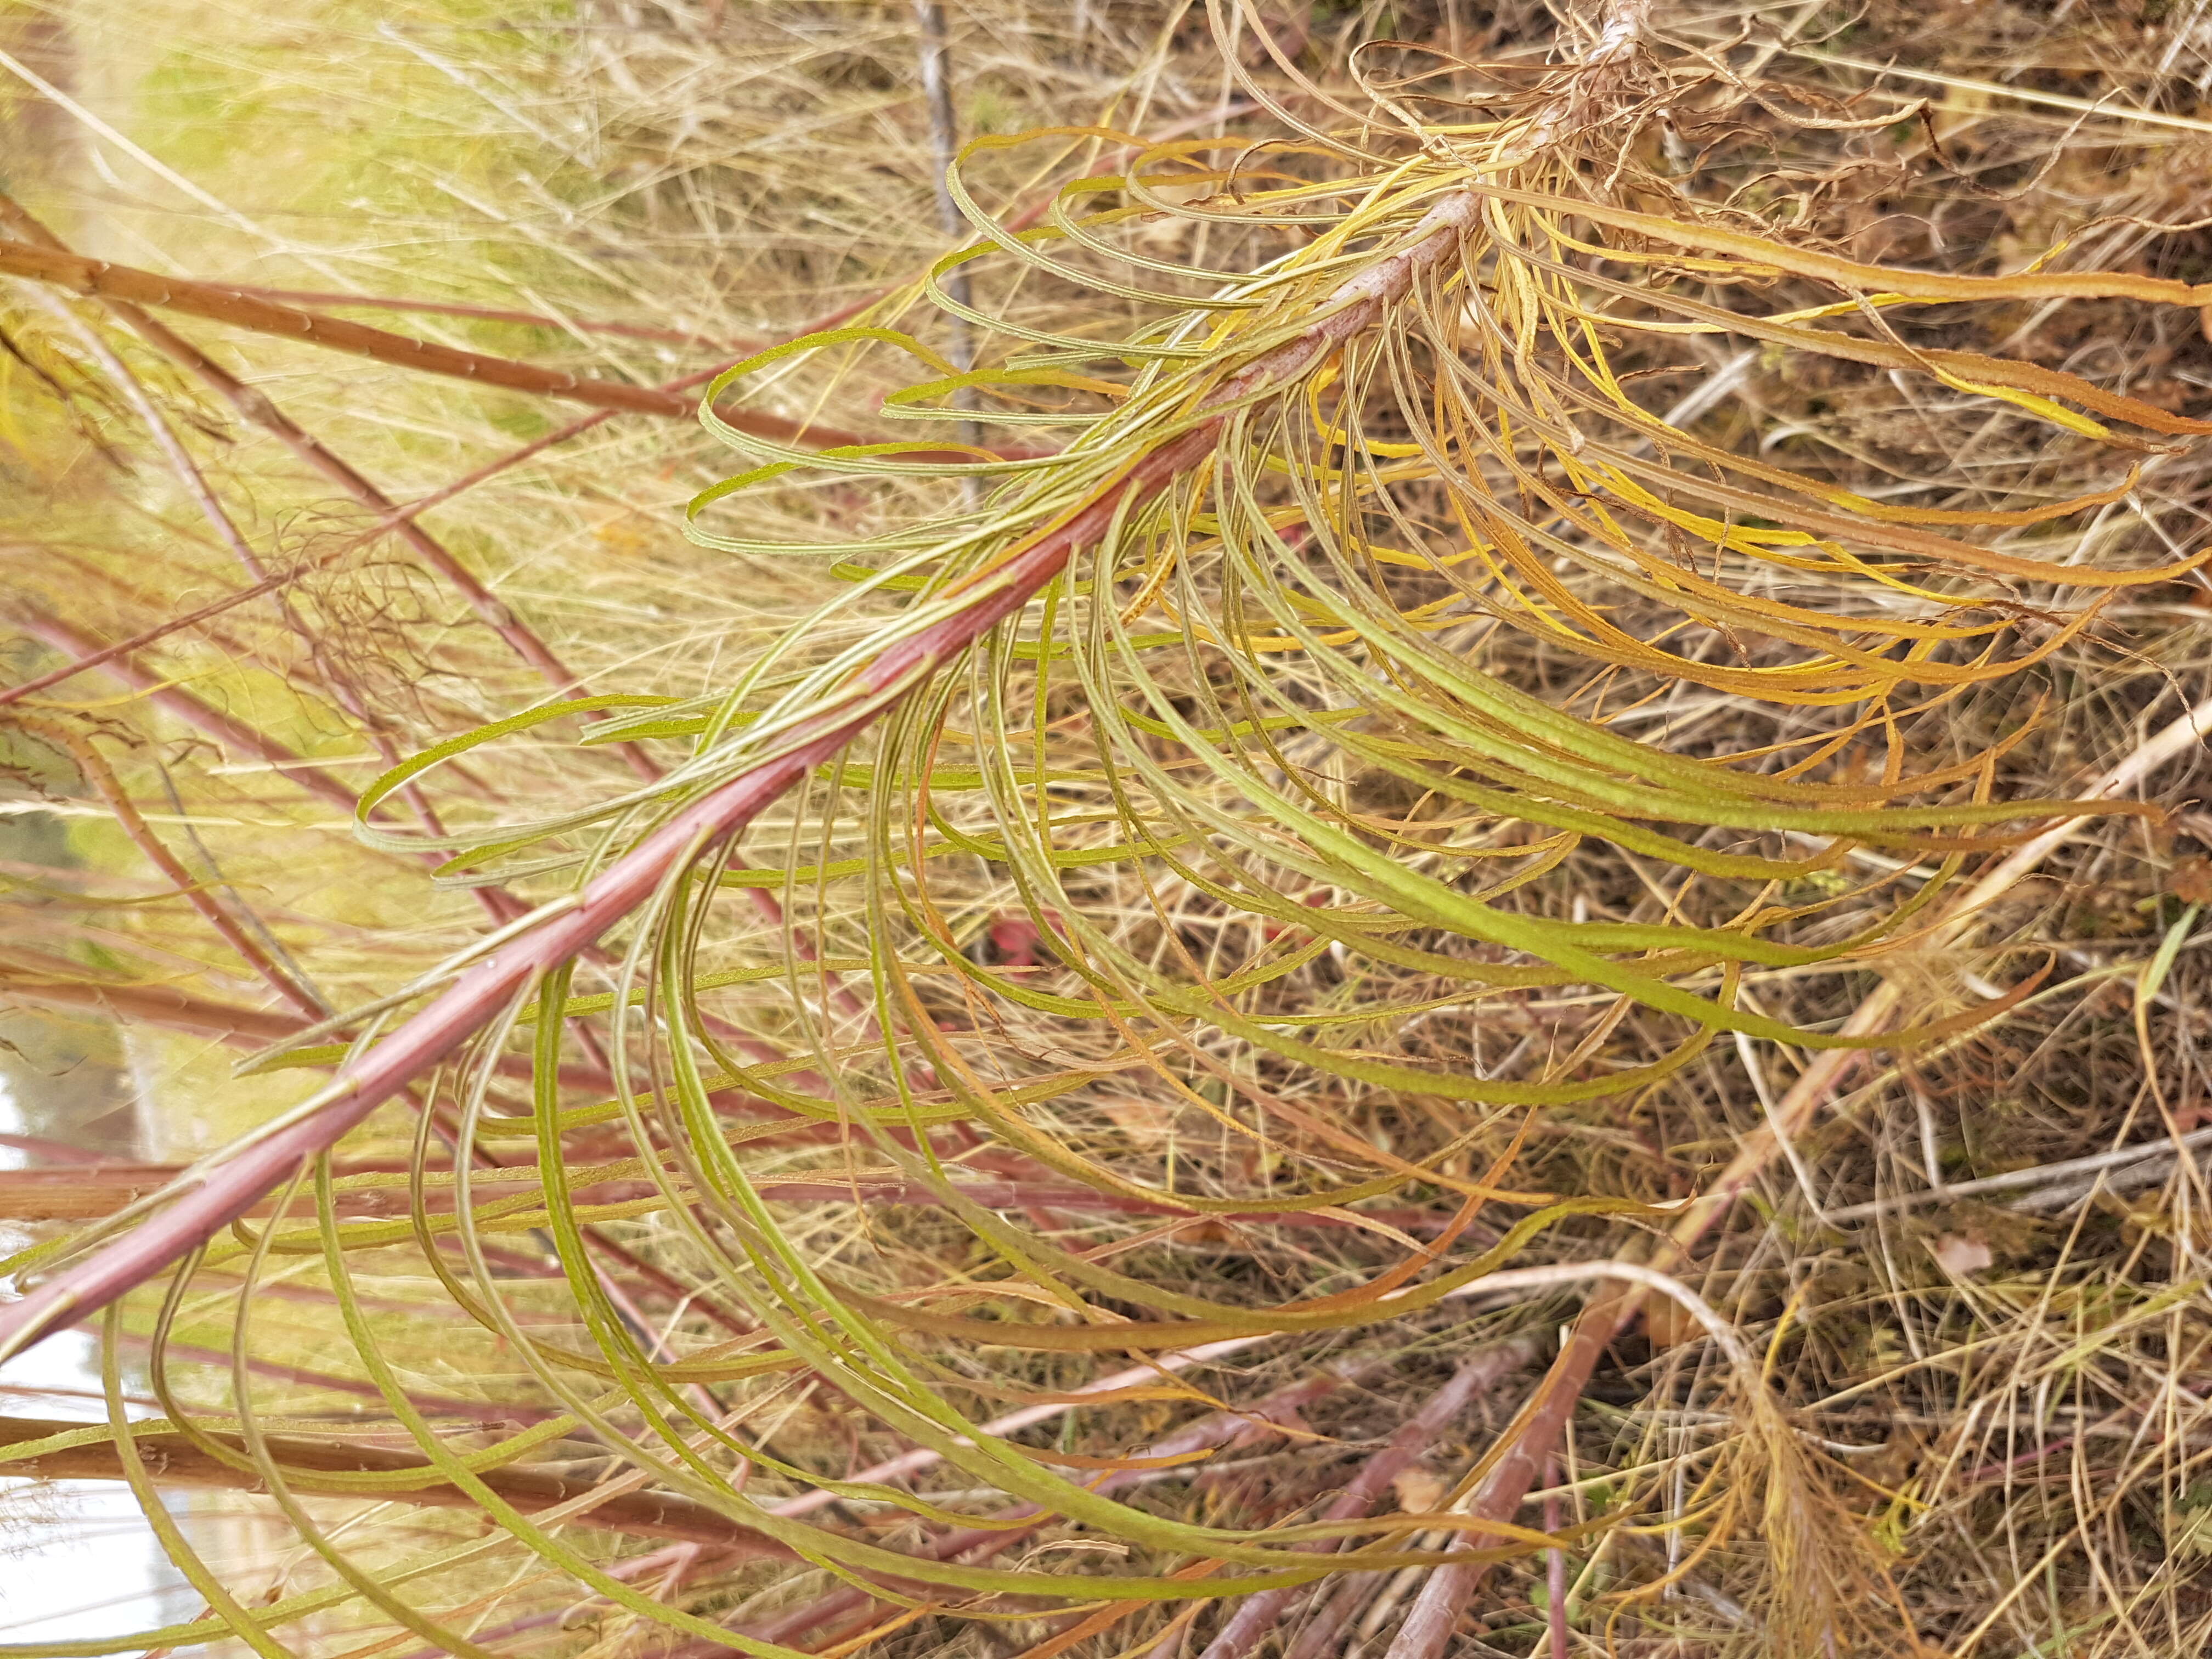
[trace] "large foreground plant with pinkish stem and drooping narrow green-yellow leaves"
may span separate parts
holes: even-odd
[[[104,1321],[115,1411],[13,1455],[119,1464],[208,1604],[38,1652],[228,1635],[274,1659],[349,1608],[398,1644],[500,1655],[544,1626],[482,1628],[469,1586],[504,1573],[580,1586],[639,1621],[624,1641],[655,1630],[681,1652],[1073,1615],[1031,1652],[1141,1628],[1146,1644],[1212,1632],[1225,1659],[1263,1635],[1252,1608],[1407,1571],[1422,1588],[1389,1652],[1420,1659],[1447,1650],[1484,1566],[1588,1551],[1635,1515],[1520,1513],[1588,1340],[1427,1509],[1371,1515],[1380,1475],[1367,1506],[1281,1520],[1203,1524],[1133,1493],[1270,1422],[1296,1444],[1301,1398],[1356,1378],[1365,1334],[1453,1303],[1511,1325],[1531,1298],[1606,1283],[1599,1343],[1657,1298],[1714,1336],[1734,1378],[1745,1431],[1692,1504],[1708,1537],[1756,1531],[1776,1573],[1814,1562],[1836,1582],[1803,1628],[1776,1615],[1774,1639],[1818,1650],[1878,1617],[1878,1568],[1816,1562],[1832,1540],[1790,1506],[1805,1453],[1761,1358],[1666,1272],[1679,1217],[1528,1190],[1515,1157],[1553,1115],[1661,1088],[1728,1044],[1911,1048],[2033,991],[2022,969],[1995,995],[1858,1031],[1774,1018],[1747,982],[1878,973],[1955,922],[1975,860],[2053,821],[2143,812],[2008,799],[2002,743],[1913,768],[1902,732],[2048,661],[2112,591],[2205,557],[2039,557],[2039,531],[2073,549],[2057,526],[2124,500],[2212,422],[1975,341],[2022,305],[2203,307],[2212,290],[2075,270],[2064,246],[2008,274],[1871,265],[1719,197],[1694,146],[1741,119],[1834,133],[1916,111],[1785,104],[1674,40],[1650,0],[1571,15],[1542,73],[1484,80],[1438,49],[1371,42],[1352,64],[1363,102],[1307,82],[1243,0],[1208,15],[1265,135],[980,137],[947,179],[971,239],[929,272],[922,314],[860,314],[706,389],[699,416],[737,471],[697,495],[690,538],[830,564],[845,580],[832,604],[710,692],[557,695],[361,794],[358,836],[429,854],[440,883],[553,896],[493,907],[476,945],[372,1006],[312,1009],[252,1062],[330,1071],[294,1110],[9,1263],[29,1287],[0,1307],[0,1352]],[[1270,75],[1239,42],[1272,55]],[[967,179],[1024,148],[1093,170],[1015,223]],[[1068,296],[1135,321],[1075,327]],[[971,367],[925,314],[958,319]],[[1701,427],[1681,369],[1714,374],[1717,343],[1973,400],[2095,451],[2104,480],[1980,509],[1845,489]],[[825,447],[803,420],[745,414],[887,356],[911,365],[883,407],[902,436]],[[818,540],[754,511],[776,491],[878,484],[922,507]],[[1506,639],[1513,661],[1568,664],[1573,692],[1500,672]],[[1823,717],[1794,741],[1690,752],[1663,734],[1690,692]],[[639,757],[637,776],[451,832],[398,812],[445,770],[498,770],[562,732]],[[1646,872],[1644,914],[1531,902],[1590,845]],[[989,949],[975,872],[1013,896],[991,925],[1009,942]],[[774,916],[781,958],[734,960],[728,907]],[[582,991],[580,971],[604,989]],[[783,987],[772,1033],[719,1006],[732,987]],[[1544,1053],[1528,1009],[1568,1004],[1588,1018]],[[1666,1040],[1599,1057],[1630,1015]],[[1420,1029],[1455,1035],[1409,1042]],[[1447,1133],[1400,1155],[1374,1110],[1402,1102]],[[407,1124],[411,1155],[349,1170],[345,1139],[378,1113]],[[1093,1133],[1099,1113],[1126,1133]],[[1787,1148],[1776,1128],[1761,1157]],[[1208,1179],[1190,1179],[1199,1164]],[[1409,1192],[1455,1208],[1416,1237],[1376,1208]],[[827,1203],[858,1206],[860,1234],[891,1225],[889,1206],[933,1214],[964,1241],[958,1272],[852,1272],[794,1225]],[[1327,1225],[1389,1254],[1349,1281],[1314,1259],[1305,1283],[1223,1294],[1066,1225],[1102,1210],[1150,1219],[1137,1245]],[[1659,1243],[1593,1256],[1595,1217]],[[608,1272],[639,1219],[664,1237],[639,1272],[712,1318],[655,1327]],[[515,1276],[531,1241],[555,1281]],[[1533,1245],[1542,1265],[1522,1261]],[[529,1422],[456,1433],[425,1407],[376,1312],[396,1259],[524,1374],[542,1400]],[[407,1447],[334,1451],[265,1420],[246,1387],[228,1418],[177,1402],[159,1356],[206,1323],[210,1274],[241,1376],[257,1287],[327,1292]],[[157,1425],[124,1425],[133,1307],[150,1310]],[[1493,1385],[1500,1354],[1535,1349],[1506,1325],[1455,1398]],[[1259,1345],[1310,1356],[1303,1378],[1181,1438],[1113,1455],[1020,1438],[1071,1407],[1221,1407],[1192,1367]],[[843,1475],[794,1460],[757,1427],[794,1389],[909,1451]],[[1013,1416],[987,1425],[993,1405]],[[577,1442],[613,1473],[546,1475],[549,1449]],[[971,1491],[918,1491],[925,1467]],[[325,1564],[319,1586],[246,1604],[164,1517],[175,1471],[257,1482]],[[316,1509],[332,1495],[487,1526],[356,1546]],[[898,1546],[883,1517],[951,1531]],[[1104,1548],[1002,1559],[1046,1524]],[[666,1588],[701,1553],[726,1584],[812,1573],[807,1617]]]

